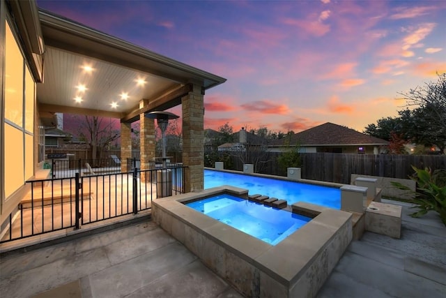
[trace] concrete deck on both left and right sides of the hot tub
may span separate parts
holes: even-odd
[[[348,246],[317,297],[446,296],[445,226],[436,214],[411,218],[408,204],[390,202],[403,205],[401,239],[365,232]],[[0,292],[11,298],[242,297],[147,216],[0,255]]]

